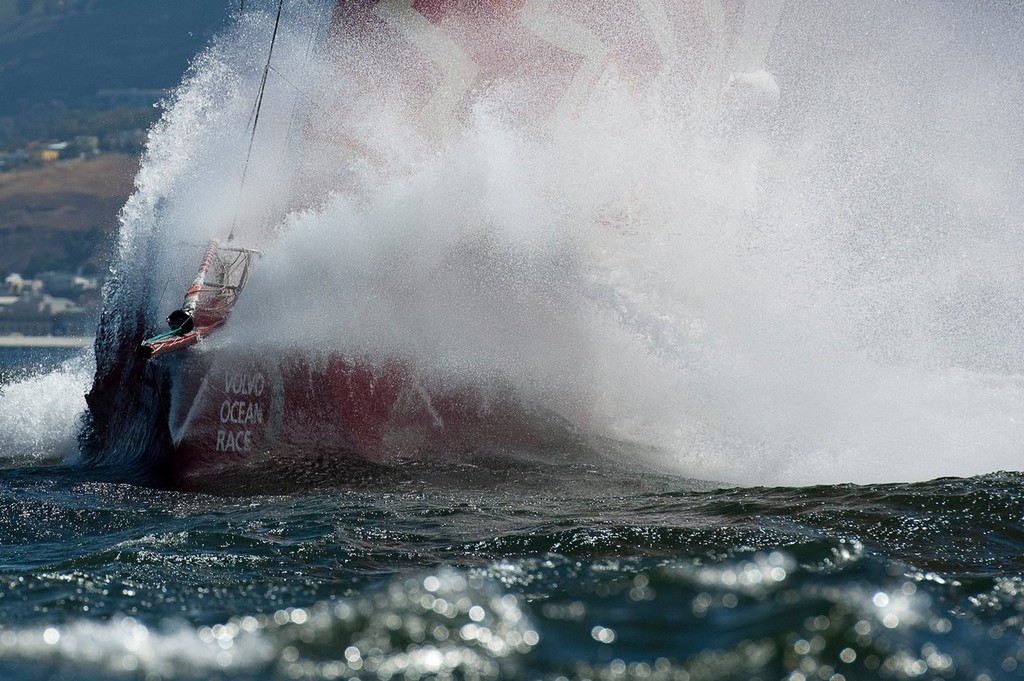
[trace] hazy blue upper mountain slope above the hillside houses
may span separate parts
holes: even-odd
[[[117,108],[147,127],[153,102],[237,10],[238,0],[0,0],[0,147]]]

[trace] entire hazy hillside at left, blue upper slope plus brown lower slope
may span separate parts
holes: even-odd
[[[147,128],[238,0],[0,0],[0,151]],[[102,268],[136,158],[0,173],[0,274]]]

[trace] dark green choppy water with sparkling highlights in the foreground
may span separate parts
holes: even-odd
[[[536,452],[393,473],[220,498],[0,471],[0,678],[1024,669],[1017,473],[719,488]]]

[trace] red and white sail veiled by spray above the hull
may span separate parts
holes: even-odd
[[[367,65],[367,91],[390,93],[443,133],[481,95],[503,92],[506,110],[542,125],[571,117],[608,83],[691,109],[736,88],[770,99],[777,86],[765,59],[781,8],[781,0],[338,0],[329,43],[340,62]]]

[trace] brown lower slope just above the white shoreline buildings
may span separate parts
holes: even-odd
[[[137,169],[106,154],[0,173],[0,274],[103,267]]]

